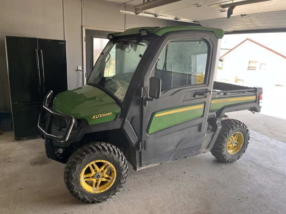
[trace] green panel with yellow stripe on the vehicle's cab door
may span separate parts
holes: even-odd
[[[197,119],[203,116],[204,103],[192,106],[177,107],[152,113],[147,126],[147,134],[178,125],[189,120]]]

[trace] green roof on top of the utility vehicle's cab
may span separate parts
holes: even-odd
[[[174,31],[186,31],[186,30],[200,30],[200,31],[211,31],[214,33],[217,39],[221,39],[224,35],[224,31],[218,28],[209,28],[209,27],[202,27],[202,26],[169,26],[169,27],[137,27],[137,28],[130,28],[123,32],[113,33],[113,37],[119,36],[128,36],[139,34],[140,30],[147,30],[149,34],[156,34],[158,36],[162,36],[168,32]]]

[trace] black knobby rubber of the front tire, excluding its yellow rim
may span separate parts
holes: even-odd
[[[108,162],[116,172],[114,183],[107,184],[108,189],[100,193],[88,192],[82,185],[82,172],[87,165],[96,161],[101,161],[102,164]],[[64,173],[67,189],[73,197],[84,203],[98,203],[113,198],[123,188],[127,177],[128,163],[123,153],[114,145],[99,142],[78,148],[68,160]]]

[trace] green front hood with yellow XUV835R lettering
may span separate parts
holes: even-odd
[[[109,95],[90,85],[58,94],[53,108],[75,119],[86,119],[89,125],[114,120],[121,110]]]

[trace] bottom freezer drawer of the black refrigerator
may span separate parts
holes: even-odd
[[[16,140],[41,135],[37,125],[42,106],[42,103],[12,104]]]

